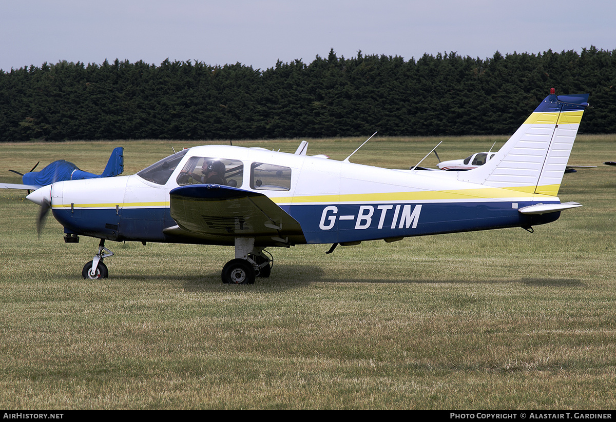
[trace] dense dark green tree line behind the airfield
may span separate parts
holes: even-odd
[[[0,70],[0,141],[513,133],[546,97],[590,93],[580,132],[616,132],[616,50],[317,56],[266,70],[198,61]]]

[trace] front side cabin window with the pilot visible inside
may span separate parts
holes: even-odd
[[[214,183],[239,188],[244,164],[239,160],[214,157],[190,157],[177,176],[180,186]]]

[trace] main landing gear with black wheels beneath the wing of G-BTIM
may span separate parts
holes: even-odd
[[[254,239],[236,237],[235,259],[222,267],[222,282],[224,284],[253,284],[256,277],[270,276],[273,263],[272,255],[261,247],[254,247]]]

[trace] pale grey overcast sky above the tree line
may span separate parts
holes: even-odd
[[[614,0],[0,0],[0,69],[616,49]]]

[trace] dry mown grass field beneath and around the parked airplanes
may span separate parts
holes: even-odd
[[[408,168],[442,138],[377,138],[354,162]],[[505,137],[445,138],[442,160]],[[310,140],[335,159],[358,138]],[[293,152],[299,140],[238,141]],[[55,159],[125,174],[186,141],[0,144],[0,180]],[[254,285],[223,285],[231,247],[65,244],[21,191],[0,189],[0,405],[7,409],[614,409],[616,135],[578,136],[563,212],[521,228],[270,249]],[[422,165],[436,166],[434,154]]]

